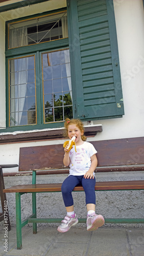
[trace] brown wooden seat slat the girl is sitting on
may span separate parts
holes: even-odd
[[[62,183],[51,183],[51,184],[26,184],[16,185],[10,188],[4,189],[4,193],[16,193],[16,192],[58,192],[61,191]],[[96,182],[95,190],[125,190],[125,189],[144,189],[144,180],[135,181],[104,181]],[[83,191],[82,186],[76,186],[74,191]]]

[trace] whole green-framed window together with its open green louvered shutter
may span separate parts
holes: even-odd
[[[8,127],[124,115],[112,1],[68,1],[67,10],[7,22],[6,34]]]

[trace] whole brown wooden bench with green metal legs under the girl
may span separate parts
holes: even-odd
[[[144,170],[144,137],[131,139],[117,139],[91,142],[97,149],[97,172],[131,172]],[[61,191],[61,184],[36,184],[37,174],[68,174],[63,165],[63,146],[44,145],[21,147],[19,153],[19,172],[32,171],[32,184],[16,185],[4,189],[4,193],[16,193],[16,235],[17,249],[22,248],[21,228],[33,223],[33,233],[37,232],[37,223],[61,222],[62,219],[40,219],[36,214],[36,193]],[[42,172],[39,172],[42,170]],[[95,190],[141,190],[144,189],[143,180],[96,182]],[[74,191],[83,191],[82,186]],[[20,196],[32,193],[33,212],[26,220],[21,221]],[[80,223],[86,219],[79,219]],[[105,219],[105,223],[144,223],[143,219]]]

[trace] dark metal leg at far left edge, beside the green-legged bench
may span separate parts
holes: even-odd
[[[1,203],[2,203],[2,209],[3,209],[0,221],[4,220],[4,212],[6,212],[6,216],[5,216],[7,219],[6,224],[8,224],[8,231],[10,231],[11,225],[10,225],[10,219],[9,219],[9,211],[8,211],[8,203],[7,203],[8,201],[6,198],[6,193],[3,193],[3,189],[5,189],[5,183],[4,183],[4,177],[3,177],[3,169],[1,166],[0,166],[0,187],[1,187],[1,190],[0,190]],[[4,204],[7,205],[6,210],[5,210]]]

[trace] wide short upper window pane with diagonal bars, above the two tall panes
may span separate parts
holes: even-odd
[[[68,37],[66,11],[9,24],[9,49]]]

